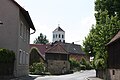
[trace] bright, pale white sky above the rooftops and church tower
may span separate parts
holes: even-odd
[[[94,0],[16,0],[33,21],[36,33],[30,36],[32,44],[40,33],[52,42],[52,31],[58,24],[65,31],[65,42],[82,45],[92,24],[95,24]]]

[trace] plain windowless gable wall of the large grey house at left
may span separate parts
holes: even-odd
[[[0,48],[13,50],[17,55],[19,9],[10,0],[0,0]],[[17,56],[14,74],[17,74]]]

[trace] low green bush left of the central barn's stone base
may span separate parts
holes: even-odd
[[[29,71],[31,74],[43,74],[45,71],[44,68],[45,65],[43,63],[33,63],[33,65],[29,67]]]

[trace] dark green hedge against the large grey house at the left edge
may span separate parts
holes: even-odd
[[[8,49],[0,49],[0,76],[13,75],[15,53]]]

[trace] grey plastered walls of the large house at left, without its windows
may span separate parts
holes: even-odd
[[[29,65],[29,42],[24,41],[20,38],[20,22],[24,22],[26,27],[29,27],[24,17],[21,15],[18,6],[16,6],[11,0],[0,0],[0,21],[3,22],[0,25],[0,48],[7,48],[13,50],[16,53],[14,76],[28,75]],[[29,36],[28,36],[29,40]],[[27,54],[26,56],[21,55],[23,59],[20,63],[20,50]],[[25,62],[27,61],[27,62]]]

